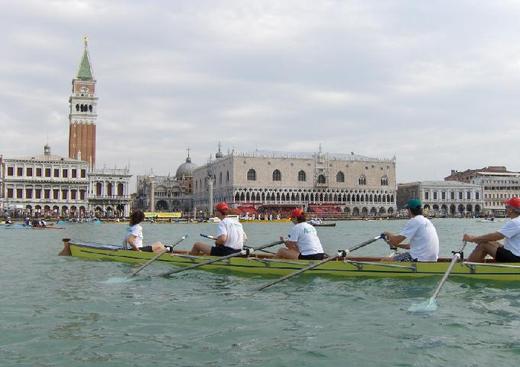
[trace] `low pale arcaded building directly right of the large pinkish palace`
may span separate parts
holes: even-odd
[[[479,216],[484,201],[479,185],[456,181],[418,181],[397,185],[397,208],[418,198],[431,216]]]

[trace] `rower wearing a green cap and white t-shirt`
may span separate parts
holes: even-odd
[[[399,234],[385,232],[385,241],[391,249],[410,250],[391,258],[393,261],[437,261],[439,258],[439,237],[433,223],[422,215],[419,199],[410,199],[405,206],[410,220]],[[408,238],[408,243],[402,243]]]

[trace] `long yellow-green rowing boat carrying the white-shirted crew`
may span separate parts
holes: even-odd
[[[64,249],[60,255],[71,255],[90,260],[109,260],[125,263],[144,263],[155,256],[150,252],[124,250],[119,245],[86,243],[63,239]],[[164,254],[157,262],[187,267],[214,259],[211,256],[192,256],[186,252]],[[392,262],[379,257],[346,257],[330,261],[307,271],[307,275],[327,277],[374,277],[374,278],[425,278],[442,276],[448,268],[451,258],[441,258],[438,262]],[[226,261],[202,266],[209,271],[226,271],[237,274],[284,276],[311,264],[306,260],[274,259],[267,255],[256,254],[250,257],[235,257]],[[479,280],[519,281],[520,263],[473,263],[459,262],[451,271],[451,277]]]

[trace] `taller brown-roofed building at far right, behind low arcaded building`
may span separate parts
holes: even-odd
[[[468,169],[463,172],[452,170],[445,180],[479,185],[482,188],[486,215],[505,215],[504,201],[512,196],[520,196],[520,172],[508,171],[504,166]]]

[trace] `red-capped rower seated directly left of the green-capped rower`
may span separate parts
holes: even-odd
[[[296,208],[291,212],[291,221],[294,227],[291,228],[288,239],[285,242],[286,248],[281,248],[275,257],[282,259],[300,259],[300,260],[323,260],[326,255],[323,252],[323,246],[316,228],[307,223],[303,209]]]

